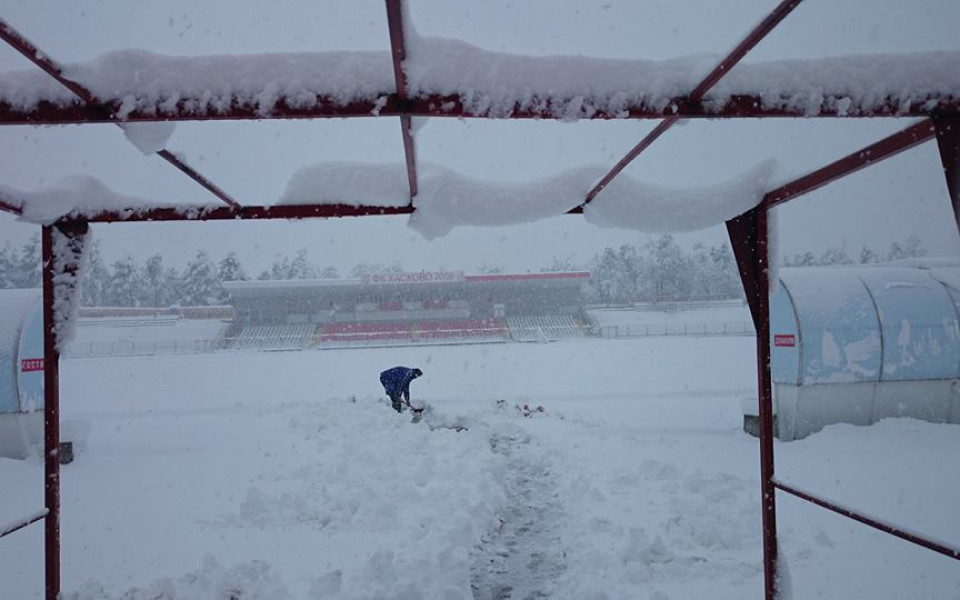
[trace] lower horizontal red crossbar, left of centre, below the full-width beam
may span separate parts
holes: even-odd
[[[261,219],[311,219],[409,215],[412,206],[366,206],[354,204],[290,204],[278,206],[210,207],[201,209],[154,208],[138,212],[104,211],[79,219],[88,223],[143,223],[147,221],[228,221]]]

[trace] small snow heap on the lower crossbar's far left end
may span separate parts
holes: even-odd
[[[83,218],[106,211],[118,211],[121,216],[133,216],[153,208],[176,208],[188,218],[210,205],[163,204],[125,196],[111,190],[99,179],[86,175],[71,175],[36,192],[22,192],[0,185],[0,197],[21,199],[23,214],[20,220],[49,225],[61,217]]]

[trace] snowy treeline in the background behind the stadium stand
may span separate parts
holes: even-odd
[[[885,253],[863,247],[851,257],[845,248],[828,248],[820,254],[804,252],[784,257],[784,266],[824,266],[877,263],[926,256],[919,238],[911,236],[894,242]],[[312,262],[305,249],[293,256],[278,255],[258,280],[339,279],[364,275],[403,273],[399,262],[360,263],[349,271]],[[414,269],[416,270],[416,269]],[[482,265],[482,273],[499,273],[497,266]],[[650,242],[619,248],[604,248],[589,265],[578,265],[571,258],[554,258],[540,269],[550,271],[589,270],[590,282],[584,293],[592,304],[628,304],[673,300],[717,300],[742,297],[740,277],[730,247],[726,244],[695,244],[687,250],[671,235]],[[251,279],[235,252],[219,260],[206,251],[198,251],[185,267],[164,263],[155,254],[144,263],[130,256],[113,262],[104,260],[96,241],[91,244],[89,261],[82,284],[85,306],[208,306],[227,301],[225,281]],[[40,239],[30,238],[20,248],[9,244],[0,249],[0,288],[40,287]]]

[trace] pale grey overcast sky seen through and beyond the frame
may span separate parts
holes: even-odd
[[[421,34],[462,39],[517,54],[582,54],[666,59],[723,54],[773,0],[411,0]],[[275,6],[282,6],[282,12]],[[171,55],[386,50],[382,0],[237,0],[48,2],[5,0],[2,17],[55,59],[88,61],[142,48]],[[805,0],[748,61],[844,54],[960,50],[955,0]],[[0,47],[0,71],[31,68]],[[654,122],[530,122],[432,119],[418,133],[418,160],[493,181],[547,177],[585,164],[613,165]],[[751,120],[674,127],[626,171],[652,184],[710,185],[774,158],[779,179],[802,175],[910,121]],[[167,147],[245,204],[270,204],[294,171],[321,161],[403,161],[397,119],[181,123]],[[176,169],[142,156],[110,125],[0,127],[0,181],[36,190],[86,174],[115,191],[164,201],[209,202]],[[935,142],[834,183],[780,210],[781,254],[845,245],[877,250],[917,235],[934,254],[960,254]],[[22,243],[34,225],[0,216],[0,242]],[[536,270],[553,257],[586,265],[605,246],[643,244],[650,236],[598,229],[580,217],[496,229],[461,228],[426,242],[406,217],[305,222],[115,224],[95,236],[108,260],[160,252],[182,266],[198,248],[218,259],[236,250],[251,274],[278,253],[306,248],[342,269],[364,261],[401,261],[410,270],[474,270],[486,264]],[[678,236],[717,244],[717,227]]]

